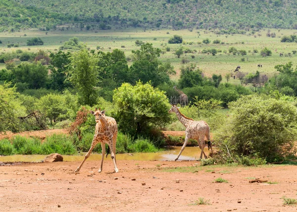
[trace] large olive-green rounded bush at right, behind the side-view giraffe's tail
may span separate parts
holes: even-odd
[[[231,115],[215,136],[226,160],[243,155],[271,162],[293,154],[297,111],[291,102],[249,95],[229,108]]]

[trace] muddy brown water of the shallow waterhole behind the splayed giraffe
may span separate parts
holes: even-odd
[[[181,147],[173,147],[170,150],[162,151],[158,153],[133,153],[133,154],[116,154],[117,160],[174,160],[178,155]],[[207,148],[204,149],[204,153],[208,155]],[[82,156],[67,156],[63,155],[64,161],[81,161],[84,159]],[[197,160],[200,157],[199,147],[186,147],[179,160]],[[45,155],[13,155],[0,157],[1,162],[40,162],[45,159]],[[204,157],[203,157],[204,158]],[[101,155],[91,154],[88,160],[100,160]],[[110,156],[107,157],[110,160]]]

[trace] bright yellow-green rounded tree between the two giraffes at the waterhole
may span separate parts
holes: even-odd
[[[123,83],[114,91],[113,102],[118,108],[119,129],[134,137],[147,135],[151,126],[161,127],[170,121],[168,99],[149,83]]]

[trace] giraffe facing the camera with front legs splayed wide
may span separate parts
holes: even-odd
[[[102,171],[103,159],[105,155],[105,144],[109,146],[111,159],[114,164],[114,171],[118,172],[119,170],[116,166],[116,159],[115,159],[115,148],[116,148],[115,144],[116,144],[117,131],[118,131],[116,121],[112,117],[105,116],[105,110],[100,111],[100,108],[98,110],[96,108],[95,111],[91,110],[90,113],[92,113],[95,116],[95,120],[97,122],[96,128],[95,128],[95,135],[94,135],[89,152],[86,154],[84,160],[77,167],[75,172],[78,172],[81,169],[82,165],[84,164],[86,159],[89,158],[92,150],[95,148],[95,146],[98,143],[101,143],[101,148],[102,148],[101,166],[98,172],[100,173]]]

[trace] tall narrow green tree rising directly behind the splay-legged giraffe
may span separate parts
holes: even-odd
[[[71,56],[72,69],[69,79],[79,91],[80,103],[93,106],[96,104],[97,94],[94,89],[98,82],[98,57],[86,49],[73,53]]]

